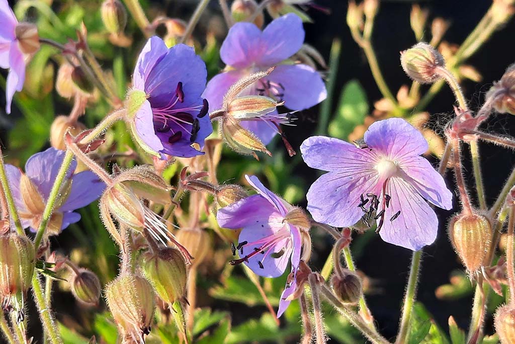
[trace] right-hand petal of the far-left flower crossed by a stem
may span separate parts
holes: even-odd
[[[60,211],[72,211],[87,206],[100,197],[106,184],[91,171],[73,175],[72,189]]]

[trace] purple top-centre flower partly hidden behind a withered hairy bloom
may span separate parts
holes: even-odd
[[[266,95],[278,102],[284,101],[284,106],[291,110],[303,110],[320,103],[327,91],[318,72],[305,64],[280,64],[297,53],[303,42],[302,20],[293,13],[272,21],[263,31],[252,23],[234,24],[220,48],[220,57],[228,65],[228,71],[212,78],[202,96],[208,99],[212,109],[219,109],[224,95],[236,81],[279,64],[242,94]],[[289,122],[289,117],[286,120]],[[270,114],[242,121],[241,125],[267,144],[278,133],[274,123],[283,121],[284,116]]]

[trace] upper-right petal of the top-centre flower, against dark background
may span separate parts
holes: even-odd
[[[261,66],[271,66],[286,60],[297,53],[304,43],[302,19],[297,14],[288,13],[273,20],[261,35]]]

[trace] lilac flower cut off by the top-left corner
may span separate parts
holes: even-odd
[[[7,0],[0,0],[0,68],[9,69],[6,83],[6,112],[11,113],[15,91],[23,89],[25,63],[39,49],[35,25],[18,23]]]

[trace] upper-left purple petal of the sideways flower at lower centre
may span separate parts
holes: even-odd
[[[218,225],[236,230],[253,224],[264,224],[270,216],[279,216],[277,209],[262,195],[256,194],[221,208],[216,213]]]

